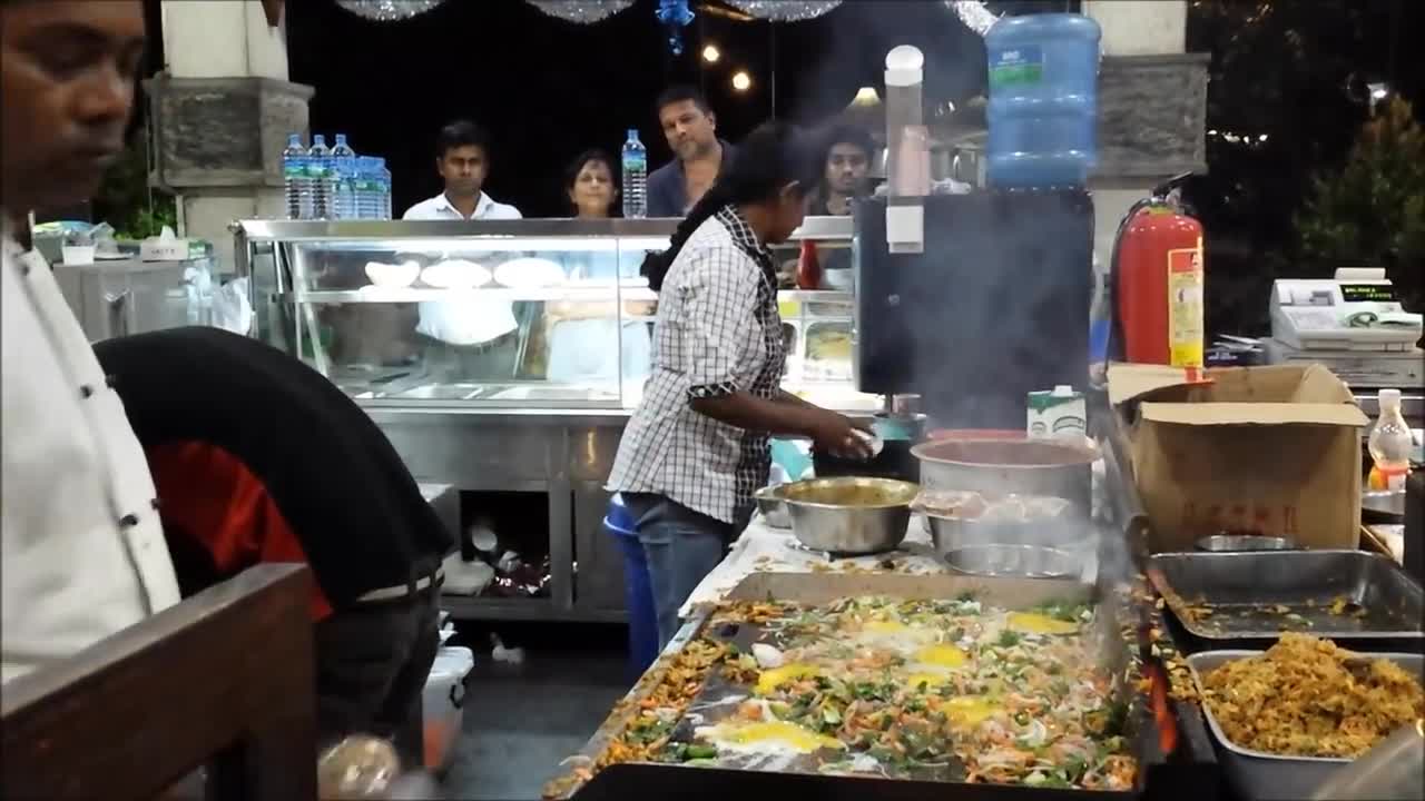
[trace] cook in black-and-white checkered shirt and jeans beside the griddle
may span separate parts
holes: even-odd
[[[608,489],[623,493],[648,559],[658,634],[747,526],[767,482],[768,436],[865,455],[855,426],[779,385],[787,361],[767,245],[802,222],[819,175],[795,128],[762,125],[644,264],[660,291],[653,375],[624,429]]]

